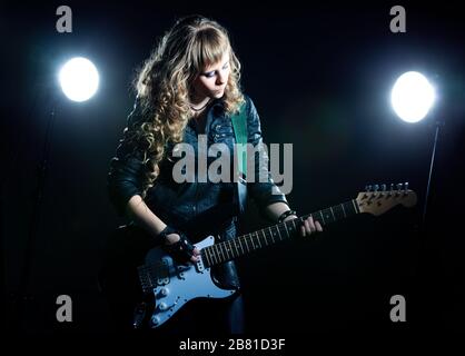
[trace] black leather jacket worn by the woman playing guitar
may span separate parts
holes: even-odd
[[[285,195],[273,181],[268,170],[268,159],[263,146],[260,120],[254,102],[247,96],[246,116],[248,142],[259,149],[255,159],[255,180],[247,182],[246,189],[241,182],[207,182],[198,181],[198,138],[195,120],[190,120],[186,127],[184,142],[190,144],[195,149],[196,174],[195,182],[178,184],[172,178],[172,159],[165,159],[160,164],[160,174],[154,185],[147,191],[145,198],[148,207],[167,225],[181,229],[192,243],[209,235],[216,235],[219,239],[230,239],[236,236],[237,216],[244,204],[241,195],[248,194],[257,204],[260,211],[268,205],[283,201],[287,204]],[[141,106],[136,100],[133,110],[128,117],[128,130],[132,130],[144,122]],[[205,132],[207,147],[216,142],[224,142],[233,151],[236,142],[230,117],[225,115],[221,100],[215,100],[208,108]],[[110,164],[108,174],[108,188],[110,199],[119,215],[123,215],[128,200],[135,195],[141,195],[146,166],[142,164],[141,152],[138,152],[128,144],[126,138],[120,140],[116,157]],[[168,151],[172,146],[168,146]],[[265,159],[258,159],[258,155]],[[180,159],[180,158],[177,158]],[[208,166],[216,158],[208,158]],[[233,159],[231,159],[233,167]],[[233,168],[231,168],[233,171]],[[267,181],[259,182],[258,177],[265,175]],[[214,275],[225,287],[239,287],[236,269],[233,261],[217,268]]]

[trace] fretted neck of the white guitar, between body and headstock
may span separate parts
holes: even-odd
[[[327,209],[301,216],[297,219],[241,235],[234,239],[204,248],[201,250],[204,264],[207,267],[224,264],[237,257],[248,255],[257,249],[290,239],[298,235],[301,222],[310,216],[315,220],[318,220],[323,226],[359,212],[360,210],[357,201],[353,199]]]

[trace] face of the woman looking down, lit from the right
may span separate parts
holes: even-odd
[[[219,62],[205,68],[194,80],[192,88],[196,99],[221,98],[228,83],[229,72],[229,53],[225,53]]]

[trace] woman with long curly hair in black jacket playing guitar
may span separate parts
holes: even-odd
[[[137,78],[136,105],[117,157],[111,161],[110,198],[121,215],[128,216],[179,261],[198,260],[199,251],[191,244],[202,237],[236,236],[244,182],[201,181],[197,169],[187,172],[192,180],[177,182],[174,179],[177,144],[191,145],[194,167],[202,150],[200,139],[207,141],[207,147],[222,142],[234,152],[231,116],[243,110],[243,117],[247,118],[247,141],[258,148],[256,155],[266,156],[257,110],[241,92],[239,78],[240,63],[226,29],[199,16],[179,20],[160,40]],[[246,186],[260,211],[273,221],[296,218],[270,178],[267,165],[256,159],[255,177],[260,171],[268,179]],[[300,229],[306,236],[320,231],[321,227],[309,218]],[[220,285],[239,288],[233,261],[216,268],[214,275]],[[215,307],[220,312],[209,315],[217,315],[217,320],[209,320],[204,327],[218,332],[224,326],[224,332],[243,332],[240,296]],[[189,313],[191,316],[195,312]]]

